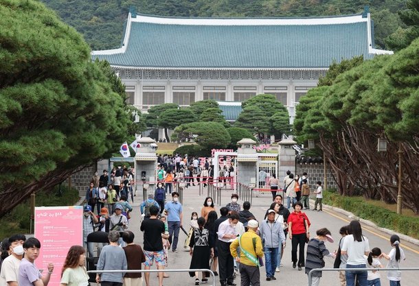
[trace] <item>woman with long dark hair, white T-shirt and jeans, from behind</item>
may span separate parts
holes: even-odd
[[[364,255],[370,254],[370,243],[362,235],[361,224],[357,220],[350,222],[348,231],[341,248],[341,254],[348,254],[346,268],[365,268]],[[367,286],[366,271],[346,270],[345,276],[347,286],[355,286],[355,281],[359,282],[359,286]]]

